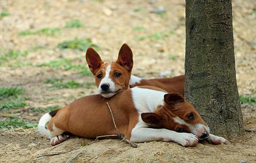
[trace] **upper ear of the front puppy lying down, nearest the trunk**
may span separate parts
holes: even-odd
[[[184,103],[184,97],[179,93],[167,93],[164,95],[164,102],[168,105],[172,105],[174,109],[179,109]]]

